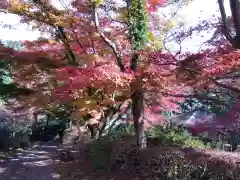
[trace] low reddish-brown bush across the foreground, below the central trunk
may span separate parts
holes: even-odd
[[[58,171],[64,176],[63,179],[69,180],[96,179],[96,177],[122,179],[122,177],[130,178],[130,175],[134,177],[130,179],[136,177],[166,180],[237,179],[240,172],[240,169],[234,168],[228,160],[225,161],[218,156],[214,158],[212,155],[215,152],[207,153],[205,150],[165,145],[140,151],[135,148],[136,146],[132,146],[134,139],[130,136],[115,141],[94,141],[86,147],[88,156],[87,161],[83,161],[83,166],[75,164],[74,168],[66,167],[67,173],[63,169]],[[86,166],[89,165],[88,162],[91,162],[90,166]],[[74,174],[75,177],[69,178],[69,174]],[[92,177],[92,175],[96,176]]]

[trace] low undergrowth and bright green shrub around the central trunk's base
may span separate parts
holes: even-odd
[[[85,154],[91,167],[88,167],[88,171],[91,171],[91,175],[98,174],[99,180],[133,179],[133,176],[144,180],[240,179],[238,168],[231,169],[221,160],[216,161],[204,153],[197,153],[195,149],[208,146],[182,129],[156,127],[148,133],[148,137],[148,148],[141,151],[136,148],[131,133],[116,133],[114,137],[105,136],[92,142]],[[184,152],[185,149],[191,151]],[[75,167],[78,170],[66,168],[68,177],[70,173],[75,175],[72,179],[87,179],[83,172],[80,173],[80,165]],[[65,176],[63,179],[70,178]]]

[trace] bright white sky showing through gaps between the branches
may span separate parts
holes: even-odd
[[[53,0],[57,7],[61,7],[59,0]],[[61,1],[61,0],[60,0]],[[225,1],[228,3],[228,1]],[[227,4],[227,7],[229,5]],[[171,7],[160,9],[159,14],[164,13],[168,15],[172,11]],[[230,8],[226,9],[227,14],[230,14]],[[217,0],[194,0],[188,6],[185,6],[178,11],[178,17],[183,21],[186,26],[194,26],[200,20],[210,20],[220,16],[218,12]],[[3,24],[9,24],[15,29],[2,28]],[[199,45],[204,41],[211,38],[212,32],[195,35],[182,43],[185,47],[183,51],[197,51]],[[2,40],[35,40],[41,36],[40,32],[32,31],[27,25],[20,23],[20,18],[13,14],[0,13],[0,39]],[[171,47],[177,48],[176,44],[169,44]]]

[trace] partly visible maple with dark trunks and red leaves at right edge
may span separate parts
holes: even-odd
[[[220,52],[218,58],[222,63],[218,64],[212,74],[215,87],[220,88],[221,92],[228,92],[228,99],[233,99],[235,103],[227,109],[223,116],[217,116],[213,121],[203,121],[193,127],[195,133],[216,131],[237,132],[239,130],[239,3],[236,0],[230,0],[231,16],[227,17],[223,0],[218,0],[220,10],[220,21],[215,24],[217,27],[214,37],[211,39],[211,45],[215,46],[213,52]],[[209,28],[209,23],[207,28]],[[219,48],[222,47],[222,48]],[[225,49],[225,51],[222,51]],[[221,51],[219,51],[221,50]],[[212,58],[212,56],[209,56]],[[216,57],[216,56],[215,56]],[[217,73],[217,74],[215,74]],[[229,103],[229,102],[228,102]],[[228,104],[227,103],[227,104]],[[225,105],[226,106],[226,105]]]

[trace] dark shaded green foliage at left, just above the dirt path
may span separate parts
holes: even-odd
[[[53,140],[60,131],[66,129],[68,123],[67,119],[62,119],[65,118],[63,114],[61,118],[61,113],[63,112],[52,112],[48,119],[40,120],[34,125],[1,123],[0,150],[24,149],[34,141]]]

